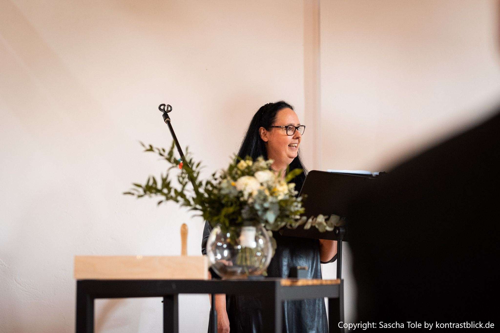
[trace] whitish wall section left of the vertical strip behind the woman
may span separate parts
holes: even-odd
[[[0,332],[71,332],[74,255],[200,254],[203,221],[123,196],[164,165],[157,110],[182,145],[225,166],[253,113],[303,115],[302,1],[0,1]],[[161,332],[161,303],[96,302],[98,332]],[[204,332],[208,297],[180,298]]]

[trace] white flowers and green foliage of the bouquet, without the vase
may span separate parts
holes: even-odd
[[[285,226],[296,228],[304,223],[304,227],[314,225],[319,231],[332,230],[334,226],[334,220],[325,221],[322,215],[309,221],[299,218],[304,212],[302,198],[296,197],[294,184],[289,182],[302,172],[300,169],[287,170],[283,178],[270,171],[272,160],[259,157],[252,161],[250,157],[233,156],[226,170],[200,180],[201,162],[194,161],[188,147],[179,169],[173,142],[168,151],[140,144],[144,152],[158,155],[168,167],[159,177],[148,176],[144,184],[132,183],[133,187],[123,194],[136,198],[159,197],[157,205],[176,202],[197,211],[212,227],[220,224],[222,230],[240,226],[244,221],[259,222],[271,231]]]

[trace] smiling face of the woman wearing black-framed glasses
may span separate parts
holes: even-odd
[[[277,112],[272,126],[300,125],[298,117],[292,109],[284,108]],[[272,127],[270,131],[260,127],[260,137],[266,142],[267,157],[278,163],[287,165],[297,156],[302,135],[295,131],[286,135],[285,128]]]

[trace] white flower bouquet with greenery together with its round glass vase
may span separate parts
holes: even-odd
[[[174,156],[174,143],[166,151],[141,143],[145,152],[153,152],[169,167],[159,178],[149,176],[144,184],[134,183],[124,194],[137,198],[160,197],[158,205],[177,202],[199,215],[211,225],[207,254],[212,268],[225,277],[265,274],[274,249],[272,231],[283,227],[304,229],[315,226],[319,231],[333,230],[337,219],[300,217],[304,212],[302,198],[297,197],[290,181],[302,170],[271,171],[272,160],[262,157],[235,157],[225,170],[200,180],[201,163],[195,162],[186,148],[185,162]],[[178,168],[176,181],[170,172]],[[189,186],[191,184],[191,186]]]

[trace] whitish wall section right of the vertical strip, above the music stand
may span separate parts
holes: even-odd
[[[382,170],[498,102],[493,0],[321,1],[321,168]]]

